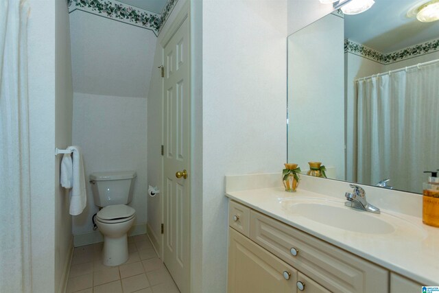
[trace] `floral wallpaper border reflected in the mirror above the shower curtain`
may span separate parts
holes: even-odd
[[[370,49],[359,43],[355,43],[353,40],[344,40],[344,52],[352,53],[355,55],[368,58],[370,60],[377,61],[381,64],[388,65],[390,63],[398,62],[401,60],[422,56],[425,54],[432,53],[434,51],[439,51],[439,38],[434,40],[429,40],[425,43],[420,43],[399,51],[394,51],[389,54],[383,54],[374,49]]]

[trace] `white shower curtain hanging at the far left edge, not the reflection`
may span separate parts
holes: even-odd
[[[0,0],[0,292],[31,292],[26,0]]]

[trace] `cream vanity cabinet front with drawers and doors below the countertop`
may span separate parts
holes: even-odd
[[[229,204],[229,293],[388,292],[388,270],[243,204]],[[249,235],[241,232],[246,223]]]

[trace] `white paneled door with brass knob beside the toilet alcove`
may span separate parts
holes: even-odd
[[[191,100],[188,23],[186,18],[163,48],[163,261],[183,293],[189,292]]]

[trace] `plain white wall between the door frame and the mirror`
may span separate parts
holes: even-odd
[[[287,2],[202,3],[202,292],[226,292],[224,176],[286,160]]]

